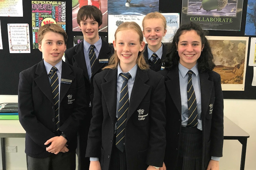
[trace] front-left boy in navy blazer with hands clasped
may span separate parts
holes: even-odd
[[[43,60],[20,72],[18,86],[27,169],[75,170],[77,132],[88,107],[83,70],[62,61],[67,34],[59,25],[43,25],[37,35]]]

